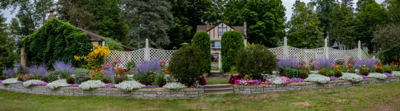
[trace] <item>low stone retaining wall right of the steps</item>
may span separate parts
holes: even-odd
[[[400,81],[400,77],[388,77],[385,80],[375,78],[363,79],[360,83],[352,83],[348,80],[329,81],[326,84],[317,84],[313,82],[289,83],[286,85],[259,85],[259,86],[238,86],[233,85],[233,92],[237,94],[260,94],[268,92],[283,92],[301,89],[333,88],[343,86],[366,85],[373,83],[388,83]]]

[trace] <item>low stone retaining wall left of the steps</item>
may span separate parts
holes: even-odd
[[[204,95],[204,89],[138,89],[132,92],[124,92],[116,88],[98,88],[91,91],[83,91],[78,87],[61,87],[51,90],[47,86],[31,86],[0,84],[0,89],[42,95],[67,95],[67,96],[116,96],[116,97],[138,97],[138,98],[194,98]]]

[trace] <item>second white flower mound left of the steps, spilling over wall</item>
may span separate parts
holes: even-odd
[[[119,84],[116,84],[114,87],[118,88],[124,92],[133,91],[136,89],[144,88],[146,85],[142,85],[136,81],[123,81]]]

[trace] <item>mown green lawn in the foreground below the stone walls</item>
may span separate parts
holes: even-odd
[[[192,99],[50,96],[0,90],[0,111],[399,111],[400,82]]]

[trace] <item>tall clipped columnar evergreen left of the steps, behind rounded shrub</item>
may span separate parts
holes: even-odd
[[[204,61],[204,71],[209,73],[211,70],[211,40],[209,35],[205,31],[196,32],[193,36],[193,40],[191,41],[192,45],[197,46],[201,49],[203,54]]]

